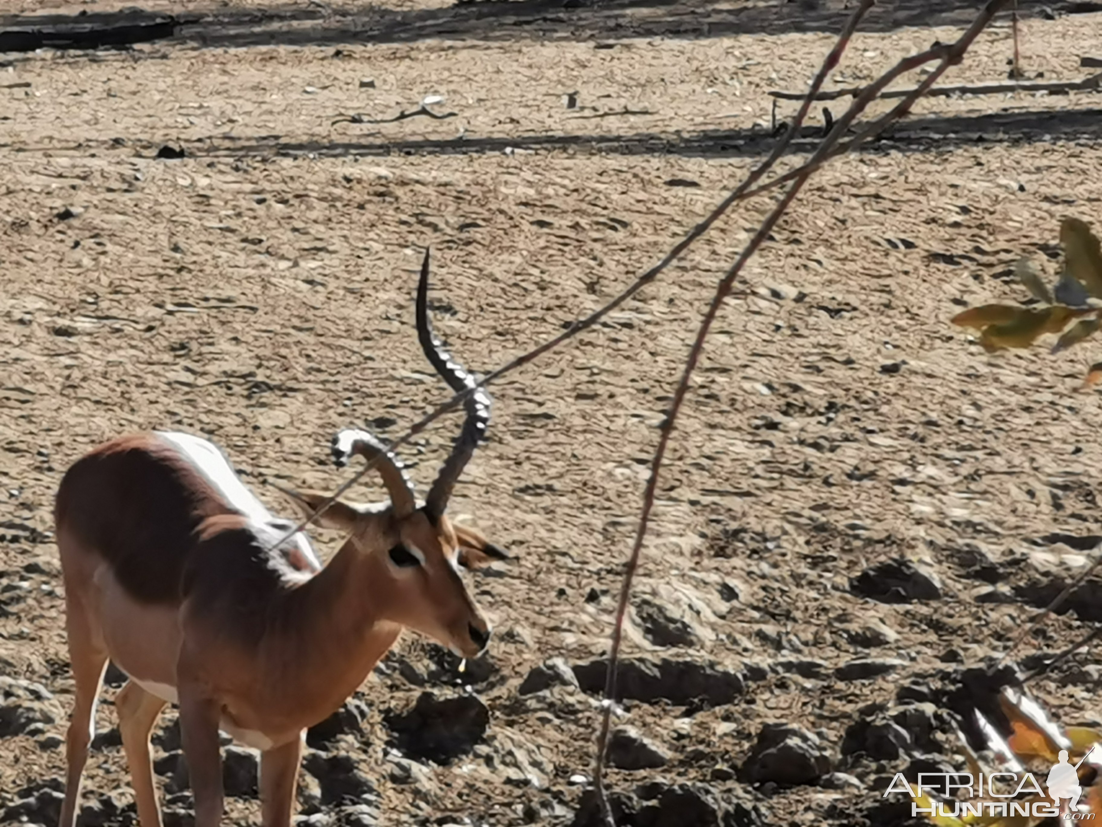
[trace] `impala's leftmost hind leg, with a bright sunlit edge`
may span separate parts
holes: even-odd
[[[107,667],[107,651],[79,595],[73,593],[68,584],[65,592],[65,630],[76,692],[65,740],[65,801],[58,827],[73,827],[84,765],[88,761],[88,744],[96,731],[96,701]]]

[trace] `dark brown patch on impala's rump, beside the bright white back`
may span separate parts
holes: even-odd
[[[180,599],[181,577],[207,517],[236,514],[175,449],[153,434],[122,437],[65,473],[54,506],[65,533],[107,560],[142,603]]]

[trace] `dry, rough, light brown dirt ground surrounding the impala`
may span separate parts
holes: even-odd
[[[480,6],[303,2],[273,23],[257,2],[158,2],[144,8],[237,14],[237,29],[194,34],[195,24],[130,51],[0,55],[0,669],[44,685],[67,711],[51,505],[84,451],[133,429],[184,429],[224,447],[281,512],[268,481],[335,487],[347,472],[327,462],[334,430],[367,422],[393,438],[445,398],[412,327],[424,245],[437,331],[471,367],[554,335],[768,152],[767,92],[806,88],[845,14]],[[1084,76],[1079,58],[1099,56],[1102,14],[1044,20],[1039,9],[1026,8],[1022,26],[1027,72]],[[918,12],[878,9],[830,86],[960,31],[895,25]],[[383,25],[392,36],[374,36]],[[1004,79],[1009,54],[1001,21],[947,79]],[[368,122],[426,95],[455,116]],[[1089,555],[1038,538],[1099,533],[1102,415],[1096,393],[1076,393],[1096,350],[988,356],[948,319],[1022,299],[1015,259],[1047,260],[1063,215],[1100,217],[1096,106],[1089,93],[923,101],[890,140],[815,178],[752,261],[678,422],[636,587],[694,636],[660,647],[633,624],[627,649],[761,674],[736,705],[627,705],[623,722],[670,763],[615,771],[614,787],[700,782],[756,804],[764,824],[860,824],[908,759],[842,756],[846,727],[873,713],[866,705],[894,704],[900,686],[932,686],[1007,651],[1035,611],[1014,588],[1084,565]],[[165,143],[186,157],[154,158]],[[381,824],[570,823],[582,791],[571,776],[592,770],[597,698],[532,701],[517,689],[549,657],[606,652],[658,425],[717,278],[771,203],[733,211],[606,324],[493,386],[489,441],[453,506],[517,556],[472,577],[498,630],[491,675],[474,687],[490,726],[473,753],[396,783],[383,717],[424,687],[393,669],[368,678],[365,734],[342,749],[377,786]],[[456,427],[449,418],[401,451],[420,486]],[[374,479],[356,491],[379,495]],[[339,540],[315,537],[326,554]],[[1006,602],[976,599],[991,599],[974,574],[984,555]],[[897,556],[923,561],[942,597],[892,605],[851,592],[851,578]],[[869,649],[845,634],[872,621],[898,637]],[[1073,614],[1050,619],[1015,656],[1059,651],[1089,629]],[[423,665],[431,651],[408,636],[400,653]],[[868,680],[833,675],[858,657],[900,663]],[[793,660],[819,662],[817,677]],[[1030,684],[1063,723],[1102,719],[1092,660]],[[818,732],[832,769],[861,786],[733,780],[768,721]],[[114,726],[110,704],[98,722]],[[57,720],[0,742],[0,809],[61,777],[48,735],[63,731]],[[942,758],[963,766],[940,738]],[[510,750],[529,756],[536,783],[506,783]],[[108,745],[89,762],[85,797],[114,791],[129,801],[121,751]],[[230,812],[236,824],[259,817],[244,798]]]

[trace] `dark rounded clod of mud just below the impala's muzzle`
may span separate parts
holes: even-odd
[[[421,692],[413,708],[390,713],[386,724],[407,755],[447,764],[474,749],[486,734],[489,710],[473,695]]]

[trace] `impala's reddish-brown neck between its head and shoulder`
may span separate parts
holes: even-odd
[[[317,574],[287,594],[272,632],[273,689],[296,712],[324,718],[352,695],[398,640],[401,626],[379,619],[372,605],[368,559],[346,543]],[[293,687],[293,688],[292,688]],[[314,722],[313,720],[310,721]]]

